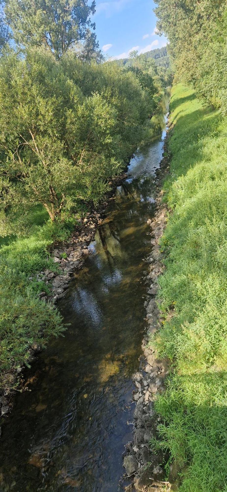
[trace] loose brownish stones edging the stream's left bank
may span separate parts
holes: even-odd
[[[67,241],[55,244],[50,252],[57,270],[45,270],[35,273],[29,277],[32,281],[35,277],[38,282],[45,282],[46,291],[39,293],[43,302],[49,302],[53,308],[59,299],[62,299],[67,291],[70,280],[75,272],[83,267],[85,256],[89,254],[88,246],[93,241],[97,227],[102,223],[106,208],[110,200],[114,199],[114,191],[127,177],[125,173],[110,182],[111,189],[105,195],[103,202],[92,212],[88,212],[78,221],[73,234]],[[47,293],[48,292],[48,293]],[[36,354],[40,351],[37,343],[28,349],[28,363],[31,364]],[[4,374],[3,387],[0,388],[0,416],[5,417],[11,411],[14,404],[15,388],[23,391],[24,387],[23,371],[24,367],[14,367]]]

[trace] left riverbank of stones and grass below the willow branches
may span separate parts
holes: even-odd
[[[17,338],[21,337],[21,339],[18,338],[21,346],[16,354],[16,340],[12,339],[10,330],[8,338],[2,340],[7,349],[11,347],[12,343],[14,344],[13,350],[4,361],[4,368],[1,369],[0,373],[0,415],[2,417],[11,411],[15,392],[24,391],[23,371],[25,367],[29,367],[36,354],[46,347],[51,335],[63,334],[65,327],[62,324],[61,315],[57,310],[55,311],[55,305],[58,300],[65,296],[74,273],[83,267],[84,258],[89,254],[88,246],[94,239],[97,227],[102,223],[106,208],[110,200],[113,199],[116,186],[120,185],[125,177],[126,174],[123,173],[114,178],[110,182],[110,191],[106,193],[103,201],[96,209],[86,212],[80,219],[75,219],[76,225],[73,232],[70,233],[70,228],[62,224],[62,229],[56,226],[56,234],[53,230],[47,234],[46,229],[50,224],[47,224],[47,227],[44,224],[43,226],[40,225],[39,230],[32,237],[17,241],[9,238],[8,244],[6,242],[5,245],[2,245],[2,262],[5,263],[5,273],[7,274],[8,270],[8,274],[12,275],[11,268],[14,267],[15,279],[13,280],[19,283],[20,295],[24,294],[29,300],[33,298],[32,308],[44,313],[42,319],[38,318],[40,325],[36,322],[35,330],[32,325],[29,339],[21,337],[20,332],[16,334]],[[38,212],[37,215],[42,215],[42,213]],[[40,217],[38,220],[42,220],[42,218]],[[44,237],[40,238],[40,235]],[[11,265],[12,260],[13,265]],[[37,271],[38,265],[41,265],[39,271]],[[19,280],[21,281],[19,282]],[[15,303],[17,302],[18,300],[15,299]],[[23,306],[26,305],[28,308],[29,312],[26,314],[29,323],[30,318],[33,319],[37,311],[34,311],[33,316],[31,316],[27,300],[23,299],[22,302]],[[18,310],[20,307],[19,304]],[[22,313],[20,313],[20,317],[23,318]],[[5,320],[9,322],[7,315]],[[47,324],[48,320],[49,329],[46,331],[44,325]],[[23,322],[24,318],[22,319]]]

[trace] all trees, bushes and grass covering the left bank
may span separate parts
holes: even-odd
[[[97,204],[141,142],[161,88],[102,57],[83,1],[0,5],[0,382],[64,330],[39,299],[51,248]],[[40,279],[39,279],[40,280]]]

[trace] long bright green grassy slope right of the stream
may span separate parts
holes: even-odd
[[[227,491],[227,118],[173,87],[166,201],[173,209],[160,279],[166,320],[156,343],[174,372],[157,402],[181,492]]]

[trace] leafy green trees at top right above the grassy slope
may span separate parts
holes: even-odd
[[[155,0],[157,27],[170,41],[176,80],[227,113],[227,1]]]

